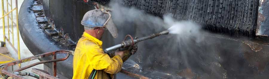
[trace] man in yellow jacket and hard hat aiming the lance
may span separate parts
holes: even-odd
[[[114,79],[114,74],[120,72],[123,62],[135,54],[137,45],[109,55],[104,53],[103,42],[100,41],[104,31],[108,29],[114,38],[117,37],[117,28],[105,10],[86,12],[81,24],[85,31],[74,52],[73,79],[88,79],[94,69],[97,70],[94,79]]]

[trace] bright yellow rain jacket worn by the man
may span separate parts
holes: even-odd
[[[104,53],[102,41],[84,32],[77,43],[73,59],[73,79],[88,79],[93,69],[97,70],[94,79],[113,79],[120,72],[123,60],[120,55],[110,58]],[[109,73],[109,75],[107,74]]]

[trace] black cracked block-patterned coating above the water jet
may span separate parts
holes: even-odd
[[[235,37],[255,37],[259,0],[91,0],[108,5],[118,1],[162,17],[194,20],[203,29]],[[111,5],[110,5],[111,6]]]

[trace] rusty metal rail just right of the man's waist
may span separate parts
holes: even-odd
[[[129,71],[124,70],[124,69],[121,69],[120,72],[123,73],[123,74],[129,75],[131,77],[138,78],[138,79],[151,79],[151,78],[145,77],[143,75],[139,75],[139,74],[136,74],[136,73],[129,72]]]

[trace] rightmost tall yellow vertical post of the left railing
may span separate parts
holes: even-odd
[[[16,3],[16,20],[17,20],[17,39],[18,39],[18,59],[21,59],[20,53],[20,38],[19,38],[19,20],[18,20],[18,0],[15,0]],[[21,64],[19,64],[19,68],[21,68]]]

